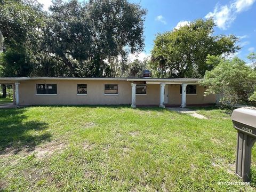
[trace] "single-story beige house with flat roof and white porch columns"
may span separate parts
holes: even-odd
[[[217,95],[194,78],[0,77],[12,84],[14,103],[30,105],[205,105]]]

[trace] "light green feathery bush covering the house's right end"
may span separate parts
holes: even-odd
[[[222,94],[224,105],[247,102],[256,86],[255,71],[241,59],[231,60],[208,56],[207,63],[215,66],[206,71],[202,85],[207,86],[205,94]]]

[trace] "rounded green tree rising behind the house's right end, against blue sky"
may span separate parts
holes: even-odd
[[[234,35],[214,36],[212,19],[195,20],[189,25],[158,34],[152,50],[151,68],[157,77],[203,77],[214,66],[206,63],[210,55],[230,54],[239,47]]]

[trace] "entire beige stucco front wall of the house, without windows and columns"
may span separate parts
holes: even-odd
[[[57,84],[57,95],[36,95],[36,84]],[[87,95],[77,95],[77,84],[87,84]],[[118,84],[118,95],[105,95],[105,84]],[[180,85],[169,86],[169,104],[180,105]],[[214,103],[215,95],[203,96],[204,87],[197,85],[197,95],[187,95],[188,104]],[[103,80],[29,80],[19,85],[21,106],[26,105],[121,105],[131,104],[131,82]],[[136,95],[137,105],[159,105],[159,84],[147,84],[146,95]]]

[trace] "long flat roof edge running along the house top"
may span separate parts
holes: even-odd
[[[146,81],[146,82],[195,82],[199,78],[135,78],[135,77],[0,77],[2,82],[22,82],[29,80],[109,80],[109,81]]]

